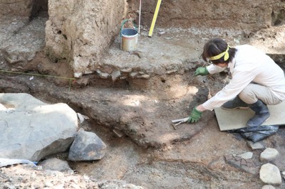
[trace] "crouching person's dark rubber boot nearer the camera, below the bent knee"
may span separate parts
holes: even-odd
[[[269,109],[260,99],[249,107],[255,112],[254,117],[247,121],[247,126],[261,126],[270,117]]]

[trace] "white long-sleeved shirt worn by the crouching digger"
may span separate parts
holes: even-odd
[[[268,55],[251,45],[239,45],[235,48],[237,48],[237,52],[227,67],[232,73],[232,80],[202,106],[209,110],[221,107],[224,102],[239,95],[250,82],[268,87],[276,97],[284,100],[285,77],[284,71],[279,65],[276,65]],[[224,69],[217,65],[207,66],[209,74],[221,72]]]

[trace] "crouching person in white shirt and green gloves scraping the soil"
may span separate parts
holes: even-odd
[[[203,60],[211,61],[207,68],[197,68],[195,76],[221,72],[229,68],[229,84],[214,97],[195,107],[188,122],[198,121],[205,110],[252,109],[254,117],[247,126],[260,126],[270,117],[267,105],[279,104],[285,99],[284,71],[268,55],[252,45],[230,47],[220,38],[204,45]]]

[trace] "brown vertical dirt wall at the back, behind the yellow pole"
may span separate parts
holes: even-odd
[[[132,9],[138,1],[129,1]],[[150,26],[157,1],[142,1],[142,25]],[[285,17],[284,0],[162,0],[157,27],[233,28],[257,31],[280,25]]]

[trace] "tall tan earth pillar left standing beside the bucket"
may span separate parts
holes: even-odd
[[[126,2],[49,0],[46,52],[70,63],[76,77],[93,72],[125,16]]]

